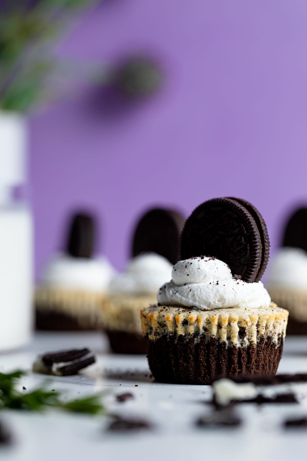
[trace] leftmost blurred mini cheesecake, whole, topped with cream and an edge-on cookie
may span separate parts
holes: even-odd
[[[115,271],[104,257],[94,257],[96,224],[75,214],[66,247],[53,255],[35,290],[38,330],[99,330],[101,306]]]

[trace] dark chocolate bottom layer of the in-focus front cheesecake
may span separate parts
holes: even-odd
[[[212,384],[219,378],[275,375],[283,352],[284,338],[278,344],[272,337],[260,338],[255,345],[227,348],[226,343],[212,337],[196,341],[195,335],[186,339],[163,335],[150,341],[148,362],[157,381],[177,384]]]

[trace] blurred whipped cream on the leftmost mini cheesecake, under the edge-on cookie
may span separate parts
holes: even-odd
[[[115,270],[105,257],[86,259],[56,254],[42,273],[41,284],[99,292],[108,289],[114,274]]]

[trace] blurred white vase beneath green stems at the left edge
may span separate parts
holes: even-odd
[[[26,119],[0,111],[0,351],[19,348],[32,335],[32,215],[13,197],[26,182],[26,154]]]

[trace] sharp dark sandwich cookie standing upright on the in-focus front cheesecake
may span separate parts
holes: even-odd
[[[202,254],[215,257],[228,264],[235,278],[258,281],[269,255],[262,221],[256,208],[241,199],[225,197],[206,201],[185,222],[181,259]]]

